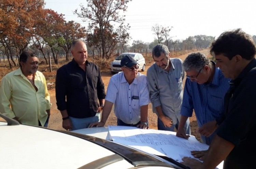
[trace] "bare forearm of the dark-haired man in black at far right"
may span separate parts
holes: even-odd
[[[209,147],[208,154],[202,164],[203,168],[214,169],[228,156],[233,148],[233,143],[215,135]]]

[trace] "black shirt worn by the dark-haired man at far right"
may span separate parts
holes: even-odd
[[[233,143],[224,169],[256,168],[256,60],[230,81],[224,99],[224,114],[216,134]]]

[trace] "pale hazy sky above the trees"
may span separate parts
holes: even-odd
[[[80,4],[87,5],[86,0],[45,0],[45,3],[45,9],[65,14],[67,21],[87,26],[88,22],[73,14],[80,9]],[[133,40],[154,41],[152,26],[155,24],[173,27],[170,31],[173,40],[195,35],[218,37],[224,31],[237,28],[256,35],[254,0],[132,0],[127,6],[127,11],[121,14],[125,15],[125,24],[131,26],[129,44]]]

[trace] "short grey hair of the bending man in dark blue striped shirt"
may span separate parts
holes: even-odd
[[[189,54],[186,57],[185,61],[183,62],[185,71],[195,69],[196,71],[199,72],[200,69],[202,69],[202,67],[206,65],[212,68],[212,63],[210,59],[200,52]]]

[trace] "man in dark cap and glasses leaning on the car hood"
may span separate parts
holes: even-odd
[[[120,64],[122,72],[110,78],[102,119],[89,127],[104,126],[115,104],[117,125],[148,129],[147,110],[150,98],[146,76],[138,72],[138,63],[132,56],[126,55]]]

